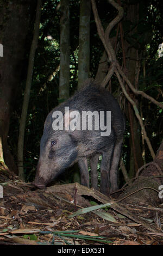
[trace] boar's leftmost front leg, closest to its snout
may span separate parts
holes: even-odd
[[[90,178],[87,166],[86,157],[78,159],[79,169],[80,169],[80,178],[81,184],[86,187],[90,187]]]

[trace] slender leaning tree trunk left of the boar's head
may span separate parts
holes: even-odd
[[[35,28],[34,28],[33,41],[32,41],[32,45],[30,48],[30,54],[29,54],[26,90],[24,93],[22,114],[21,114],[21,120],[20,120],[20,130],[19,130],[19,135],[18,135],[17,166],[18,166],[18,175],[20,176],[20,178],[23,181],[25,180],[24,169],[23,169],[24,133],[25,133],[25,129],[26,129],[26,119],[27,119],[27,111],[28,111],[28,104],[29,104],[29,97],[30,97],[30,88],[32,85],[34,58],[35,58],[35,52],[36,52],[36,48],[37,48],[37,42],[39,39],[41,7],[42,7],[42,0],[37,0]]]

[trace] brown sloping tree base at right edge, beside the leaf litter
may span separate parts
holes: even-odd
[[[152,206],[157,206],[158,204],[160,204],[162,199],[159,198],[158,192],[159,186],[162,185],[163,182],[163,178],[160,177],[163,176],[162,160],[163,140],[156,153],[154,161],[140,168],[139,172],[137,173],[136,180],[132,184],[130,184],[126,188],[126,190],[124,190],[124,192],[121,194],[119,198],[123,198],[126,197],[127,195],[130,195],[123,201],[127,202],[128,204],[140,205],[141,203]]]

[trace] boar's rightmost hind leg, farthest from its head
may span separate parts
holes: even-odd
[[[121,156],[123,139],[116,141],[110,168],[110,193],[118,190],[118,163]]]

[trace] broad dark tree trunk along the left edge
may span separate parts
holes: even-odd
[[[0,138],[4,162],[17,173],[14,157],[8,146],[9,121],[16,100],[24,45],[29,27],[29,5],[33,1],[4,1],[0,3],[0,42],[3,57],[0,58]]]

